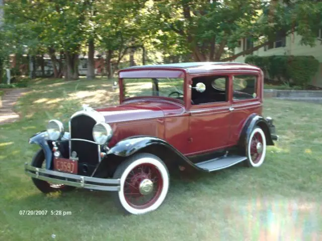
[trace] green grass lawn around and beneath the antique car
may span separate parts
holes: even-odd
[[[265,99],[264,114],[275,119],[280,142],[268,148],[262,167],[171,177],[165,203],[145,215],[123,216],[108,192],[40,193],[24,174],[38,150],[28,138],[50,118],[66,124],[82,103],[117,103],[112,84],[36,80],[19,99],[21,120],[0,126],[0,240],[322,240],[318,104]]]

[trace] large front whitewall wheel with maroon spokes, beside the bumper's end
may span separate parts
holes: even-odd
[[[169,190],[169,171],[158,157],[140,153],[121,163],[113,178],[120,179],[115,201],[127,214],[143,214],[158,208]]]

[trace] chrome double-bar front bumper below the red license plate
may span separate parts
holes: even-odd
[[[25,172],[30,177],[56,184],[65,184],[73,187],[101,191],[120,190],[120,179],[79,176],[75,174],[46,170],[44,168],[37,168],[27,163],[25,163]]]

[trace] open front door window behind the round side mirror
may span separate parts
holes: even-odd
[[[228,101],[228,76],[202,76],[192,79],[191,103],[193,105]],[[197,83],[206,86],[204,92],[198,92],[194,87]]]

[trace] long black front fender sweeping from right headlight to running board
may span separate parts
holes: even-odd
[[[118,142],[113,148],[111,148],[107,154],[108,155],[112,154],[119,157],[129,157],[137,153],[141,149],[152,145],[164,146],[167,148],[167,150],[169,150],[169,152],[176,154],[178,156],[178,159],[176,161],[178,161],[179,165],[180,163],[182,164],[185,163],[197,170],[204,171],[202,168],[197,167],[193,162],[191,162],[187,157],[185,157],[181,152],[179,152],[172,145],[156,137],[135,136],[135,137],[124,139]]]

